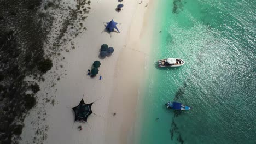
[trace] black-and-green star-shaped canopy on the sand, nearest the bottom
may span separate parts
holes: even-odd
[[[92,113],[92,111],[91,111],[92,104],[93,103],[85,104],[84,100],[82,99],[78,106],[73,107],[72,109],[75,113],[75,121],[83,120],[83,121],[87,122],[88,116],[91,115],[91,113]]]

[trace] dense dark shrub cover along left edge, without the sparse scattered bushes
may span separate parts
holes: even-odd
[[[49,32],[42,25],[51,22],[42,23],[45,17],[37,20],[40,5],[41,0],[0,1],[0,143],[18,143],[24,113],[36,105],[34,95],[40,88],[25,77],[41,75],[52,67],[49,59],[42,62]],[[32,94],[26,94],[29,89]]]

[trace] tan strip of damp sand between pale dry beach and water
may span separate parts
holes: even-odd
[[[106,143],[135,143],[139,90],[145,73],[145,60],[150,50],[149,43],[141,41],[141,39],[149,40],[151,38],[151,35],[144,35],[149,26],[147,23],[149,21],[148,13],[153,4],[152,1],[147,1],[147,3],[147,9],[142,9],[143,5],[136,5],[126,45],[118,57],[115,68],[116,82],[108,110],[109,113],[116,112],[117,116],[108,116]]]

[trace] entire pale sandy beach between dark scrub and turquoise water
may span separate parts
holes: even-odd
[[[118,13],[116,0],[91,1],[91,10],[83,23],[87,30],[75,41],[75,49],[63,51],[65,57],[55,63],[55,67],[45,74],[46,80],[40,84],[38,104],[25,119],[21,143],[33,143],[37,129],[47,129],[43,143],[133,143],[133,126],[136,118],[138,89],[142,82],[143,70],[149,46],[142,44],[143,27],[147,26],[145,16],[150,8],[148,0],[124,0],[123,10]],[[144,7],[148,3],[148,7]],[[104,30],[103,22],[114,19],[120,33],[112,37]],[[114,47],[110,57],[98,57],[102,44]],[[86,75],[94,61],[100,61],[99,73],[95,78]],[[56,60],[55,60],[56,61]],[[62,64],[63,69],[56,69]],[[54,87],[49,87],[53,75],[62,74]],[[99,76],[102,79],[99,80]],[[54,78],[57,79],[57,78]],[[44,104],[44,97],[53,95],[55,105]],[[71,107],[79,104],[84,94],[85,103],[92,103],[95,113],[88,117],[88,123],[74,123]],[[43,110],[45,107],[45,110]],[[43,114],[43,113],[46,113]],[[113,113],[117,115],[113,116]],[[45,115],[45,121],[37,119]],[[79,131],[78,126],[83,130]]]

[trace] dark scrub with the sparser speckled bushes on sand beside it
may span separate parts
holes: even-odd
[[[62,51],[60,45],[71,41],[69,37],[74,38],[86,30],[83,23],[79,22],[87,18],[90,1],[76,1],[76,8],[60,8],[60,1],[42,2],[0,1],[0,144],[19,143],[16,140],[20,139],[22,133],[24,114],[36,105],[36,93],[40,91],[38,83],[34,81],[44,81],[42,75],[53,67],[51,59],[57,56],[54,53]],[[39,11],[41,6],[43,11]],[[59,15],[59,11],[47,11],[58,8],[60,11],[69,11],[64,16],[67,19],[60,21],[60,31],[56,31],[53,22],[54,17],[62,15]],[[71,27],[73,29],[69,32]],[[49,38],[53,29],[57,34]],[[65,37],[67,34],[68,38]],[[53,39],[54,43],[51,44],[49,39]],[[51,52],[43,47],[49,43]],[[31,77],[34,81],[26,81],[25,77]],[[31,93],[27,94],[28,91]],[[51,101],[51,104],[54,105],[55,101]]]

